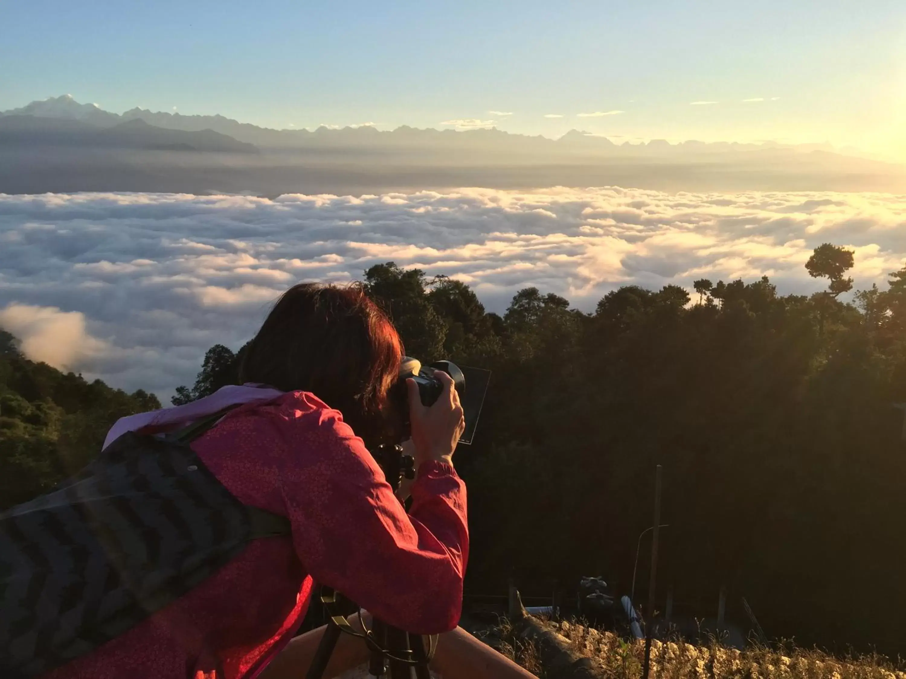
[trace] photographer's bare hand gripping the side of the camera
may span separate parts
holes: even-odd
[[[441,370],[435,371],[434,377],[440,380],[443,390],[430,407],[422,405],[415,380],[406,380],[416,469],[430,460],[453,464],[453,450],[466,430],[466,420],[453,379]]]

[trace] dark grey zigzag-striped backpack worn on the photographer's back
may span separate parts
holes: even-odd
[[[43,674],[186,594],[285,517],[236,500],[189,442],[128,432],[53,492],[0,514],[0,677]]]

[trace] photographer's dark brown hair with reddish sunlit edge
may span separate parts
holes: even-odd
[[[361,284],[300,283],[284,292],[239,367],[239,382],[310,391],[369,443],[381,431],[402,343]]]

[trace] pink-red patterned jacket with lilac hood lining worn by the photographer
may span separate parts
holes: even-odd
[[[421,466],[407,515],[339,412],[307,392],[225,388],[231,397],[181,406],[192,406],[190,416],[180,408],[132,416],[111,435],[176,428],[244,402],[192,447],[240,501],[287,516],[292,540],[256,540],[188,595],[48,679],[182,679],[216,668],[217,679],[251,679],[294,636],[313,580],[412,632],[458,624],[468,530],[466,488],[453,468]]]

